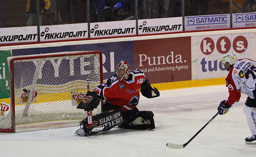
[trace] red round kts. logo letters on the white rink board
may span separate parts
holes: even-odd
[[[237,53],[243,53],[248,47],[248,42],[244,36],[237,36],[233,40],[233,49]],[[229,52],[231,49],[231,41],[225,36],[221,36],[216,42],[217,51],[221,54]],[[204,55],[210,55],[214,49],[215,44],[212,38],[204,38],[200,44],[200,49]]]

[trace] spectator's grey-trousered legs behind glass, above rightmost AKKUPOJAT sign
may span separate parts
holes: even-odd
[[[170,0],[152,0],[152,19],[167,17],[169,3]]]

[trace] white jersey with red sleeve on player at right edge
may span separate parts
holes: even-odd
[[[226,78],[226,87],[229,89],[227,105],[235,106],[240,100],[241,93],[254,98],[253,90],[256,83],[256,62],[250,59],[239,59],[231,67]]]

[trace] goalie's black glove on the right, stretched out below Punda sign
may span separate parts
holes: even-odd
[[[141,85],[141,94],[146,98],[155,98],[160,96],[158,89],[151,87],[148,79]]]

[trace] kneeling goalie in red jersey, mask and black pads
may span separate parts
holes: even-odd
[[[80,135],[90,135],[94,132],[107,131],[112,127],[118,125],[120,128],[126,129],[155,129],[154,114],[151,111],[139,111],[136,107],[139,103],[140,91],[141,94],[147,98],[154,98],[160,96],[159,91],[156,88],[151,87],[148,79],[146,78],[144,72],[139,69],[131,70],[131,67],[126,61],[121,61],[115,67],[115,75],[109,78],[106,83],[98,85],[93,92],[88,92],[85,100],[88,98],[91,100],[83,103],[83,101],[77,106],[77,108],[90,110],[98,106],[99,101],[104,100],[102,106],[102,113],[93,117],[94,119],[103,118],[103,120],[98,120],[97,126],[95,125],[95,131],[86,128],[87,119],[81,121],[83,129],[79,129],[76,133]],[[113,118],[108,118],[113,121],[107,124],[101,124],[100,122],[106,120],[106,114],[111,114],[109,111],[114,110],[114,116],[122,115],[121,120],[113,120]],[[120,112],[119,112],[120,111]],[[107,115],[109,116],[109,115]],[[98,118],[100,117],[100,118]],[[96,122],[95,122],[96,123]],[[100,125],[98,125],[100,123]],[[101,128],[101,129],[97,129]],[[88,131],[88,130],[89,131]],[[83,133],[85,132],[85,133]],[[89,132],[89,133],[88,133]]]

